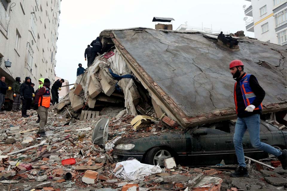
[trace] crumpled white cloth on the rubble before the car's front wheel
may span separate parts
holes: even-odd
[[[161,167],[149,165],[149,164],[142,164],[139,161],[133,159],[130,161],[122,161],[116,164],[116,168],[119,165],[123,165],[115,173],[117,178],[123,178],[125,180],[144,180],[144,176],[152,175],[161,173]]]

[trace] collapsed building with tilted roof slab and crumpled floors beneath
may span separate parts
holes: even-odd
[[[286,117],[286,48],[248,37],[129,28],[100,33],[97,56],[58,105],[74,112],[124,105],[126,112],[181,127],[236,118],[234,80],[228,69],[239,59],[266,92],[263,113]],[[282,117],[282,118],[283,118]]]

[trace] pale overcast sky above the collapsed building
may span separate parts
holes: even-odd
[[[87,67],[84,52],[100,32],[105,29],[129,27],[155,28],[154,16],[172,17],[173,30],[187,21],[193,27],[211,28],[213,30],[235,33],[244,30],[243,5],[251,2],[245,0],[62,0],[59,22],[59,39],[57,41],[56,75],[70,84],[76,81],[78,64]]]

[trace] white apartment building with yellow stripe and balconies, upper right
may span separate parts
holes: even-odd
[[[287,0],[245,0],[246,30],[260,41],[287,46]]]

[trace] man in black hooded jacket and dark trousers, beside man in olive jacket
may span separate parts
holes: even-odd
[[[29,117],[27,110],[30,110],[32,98],[35,97],[34,88],[31,86],[31,78],[26,77],[25,82],[20,86],[20,96],[22,99],[22,117]]]

